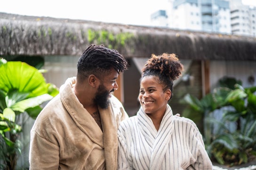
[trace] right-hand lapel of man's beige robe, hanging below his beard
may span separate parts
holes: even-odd
[[[111,104],[107,109],[98,108],[100,112],[102,127],[103,127],[103,139],[104,139],[104,155],[106,161],[107,170],[117,169],[117,127],[114,121],[114,113],[111,109]]]

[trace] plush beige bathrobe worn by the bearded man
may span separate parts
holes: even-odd
[[[117,127],[128,118],[114,96],[99,109],[103,132],[72,91],[68,79],[41,111],[31,130],[31,170],[116,170]],[[85,94],[86,95],[86,94]]]

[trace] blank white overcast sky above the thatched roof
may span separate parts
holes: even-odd
[[[150,25],[150,15],[170,7],[169,0],[0,0],[0,12]],[[256,0],[242,0],[256,6]]]

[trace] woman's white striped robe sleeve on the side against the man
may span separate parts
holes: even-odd
[[[128,152],[127,142],[125,142],[125,131],[120,125],[118,130],[118,170],[133,170],[132,163],[129,160],[132,160]]]

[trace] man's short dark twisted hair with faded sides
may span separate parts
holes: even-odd
[[[118,73],[127,69],[128,63],[117,51],[104,45],[92,44],[82,53],[77,63],[77,78],[83,80],[90,74],[106,75],[111,68]]]

